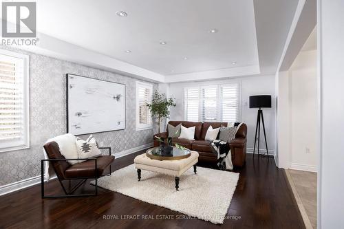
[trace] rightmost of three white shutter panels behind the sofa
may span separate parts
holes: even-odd
[[[239,121],[239,84],[221,86],[220,94],[222,122]]]

